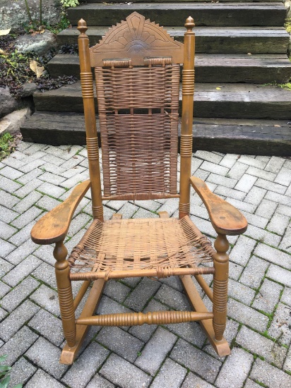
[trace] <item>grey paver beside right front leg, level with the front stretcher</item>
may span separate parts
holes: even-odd
[[[244,325],[252,327],[258,332],[264,332],[268,325],[268,317],[266,315],[231,298],[227,303],[227,315]]]

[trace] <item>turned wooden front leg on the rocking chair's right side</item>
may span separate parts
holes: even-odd
[[[224,234],[218,234],[214,247],[214,280],[213,280],[213,329],[216,341],[221,341],[226,327],[227,318],[227,282],[228,282],[228,255],[230,244]]]

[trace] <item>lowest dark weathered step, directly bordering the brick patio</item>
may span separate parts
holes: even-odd
[[[290,124],[283,120],[194,119],[193,151],[290,156],[290,129]],[[97,131],[99,135],[98,120]],[[37,111],[23,123],[21,133],[27,142],[84,145],[84,116]]]

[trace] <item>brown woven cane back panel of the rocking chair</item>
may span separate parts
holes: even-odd
[[[95,68],[104,197],[177,197],[179,65]],[[106,63],[108,66],[108,63]]]

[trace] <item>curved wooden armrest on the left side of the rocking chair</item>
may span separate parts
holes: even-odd
[[[68,232],[73,213],[79,202],[90,188],[90,181],[80,183],[71,195],[60,205],[44,215],[33,226],[31,238],[34,243],[47,245],[64,241]]]

